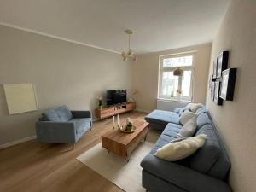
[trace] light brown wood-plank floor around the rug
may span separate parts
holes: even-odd
[[[121,119],[143,119],[145,113],[131,112]],[[35,140],[0,150],[1,192],[119,192],[106,178],[84,166],[76,157],[100,143],[101,135],[113,129],[113,119],[97,121],[76,144],[44,144]]]

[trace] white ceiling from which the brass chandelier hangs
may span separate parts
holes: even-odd
[[[121,52],[211,42],[229,0],[0,0],[0,23]]]

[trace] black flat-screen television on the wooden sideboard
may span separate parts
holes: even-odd
[[[126,102],[126,90],[107,90],[107,105]]]

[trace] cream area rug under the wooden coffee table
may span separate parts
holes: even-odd
[[[158,137],[158,132],[149,131],[147,141],[137,146],[128,163],[124,157],[111,152],[108,153],[106,149],[102,148],[102,143],[79,155],[77,160],[126,192],[145,192],[142,186],[142,167],[140,163],[153,148]]]

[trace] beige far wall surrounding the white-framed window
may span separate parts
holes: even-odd
[[[138,90],[135,96],[137,108],[145,111],[156,108],[159,56],[189,51],[196,51],[193,102],[205,103],[211,48],[212,44],[201,44],[140,55],[139,60],[132,63],[132,89]]]

